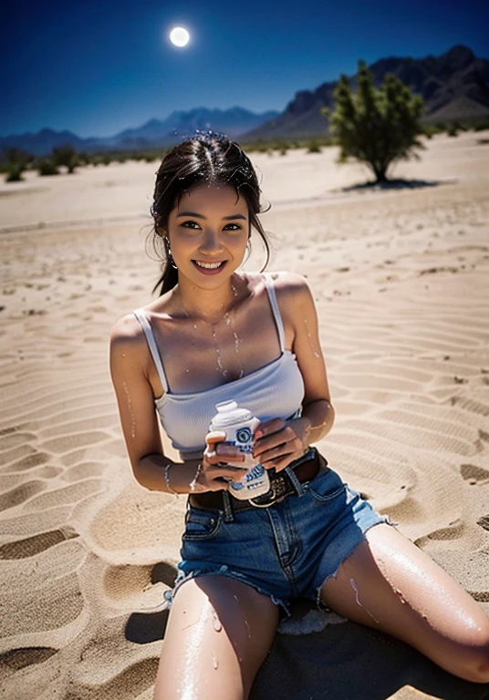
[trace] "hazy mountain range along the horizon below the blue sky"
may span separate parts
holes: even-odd
[[[453,46],[439,57],[387,57],[369,66],[376,85],[387,73],[399,77],[424,100],[423,120],[460,121],[489,118],[489,60],[477,58],[467,46]],[[356,76],[350,85],[356,88]],[[258,139],[304,139],[324,136],[328,123],[320,108],[334,106],[338,81],[323,83],[315,90],[300,90],[282,113],[255,114],[244,108],[226,110],[195,108],[176,111],[168,118],[156,118],[137,129],[125,129],[106,139],[80,139],[70,131],[42,129],[36,134],[0,138],[5,148],[27,150],[44,155],[53,147],[70,143],[77,150],[134,150],[171,146],[195,129],[224,131],[234,139],[250,142]]]

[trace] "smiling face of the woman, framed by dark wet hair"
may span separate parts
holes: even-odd
[[[198,286],[229,279],[243,262],[250,230],[248,205],[229,185],[196,185],[183,193],[168,221],[179,276]]]

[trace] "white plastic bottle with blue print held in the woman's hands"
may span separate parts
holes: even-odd
[[[209,430],[221,430],[226,434],[225,445],[233,445],[244,453],[243,479],[232,482],[230,493],[235,499],[248,500],[261,496],[270,489],[270,479],[265,467],[256,464],[253,457],[253,434],[260,423],[247,408],[239,408],[235,401],[223,401],[215,406],[217,413]]]

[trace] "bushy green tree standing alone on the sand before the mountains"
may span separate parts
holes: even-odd
[[[372,170],[376,182],[384,182],[392,163],[419,158],[414,149],[424,148],[417,138],[423,102],[398,77],[388,74],[376,88],[365,61],[359,61],[357,92],[342,75],[334,99],[333,112],[323,114],[340,147],[339,162],[355,158]]]

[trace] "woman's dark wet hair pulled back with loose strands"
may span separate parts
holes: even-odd
[[[156,173],[151,205],[154,226],[151,232],[153,245],[161,257],[161,277],[154,285],[153,292],[160,287],[160,293],[164,294],[178,283],[178,271],[172,266],[166,240],[158,229],[168,227],[170,213],[180,202],[182,194],[201,183],[230,185],[238,197],[244,197],[248,205],[250,228],[253,226],[265,244],[266,260],[262,270],[270,259],[270,245],[257,217],[262,211],[261,190],[251,161],[238,144],[227,136],[212,132],[199,134],[170,150]]]

